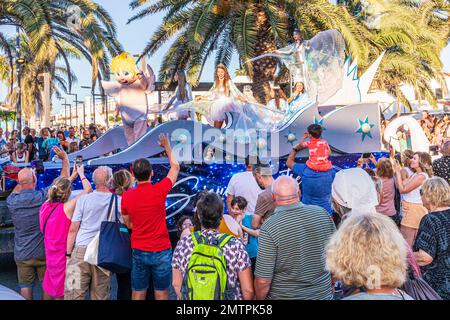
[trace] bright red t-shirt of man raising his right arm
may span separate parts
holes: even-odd
[[[122,195],[122,215],[132,223],[131,247],[146,252],[159,252],[171,248],[166,225],[166,199],[172,181],[139,183]]]

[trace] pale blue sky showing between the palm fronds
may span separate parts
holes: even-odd
[[[96,2],[102,5],[110,13],[116,23],[118,38],[122,43],[124,50],[133,54],[138,54],[141,52],[141,50],[145,47],[148,40],[150,39],[150,36],[162,21],[163,14],[157,14],[127,25],[127,20],[135,12],[137,12],[132,11],[129,8],[129,0],[97,0]],[[6,27],[2,28],[6,29]],[[13,31],[12,28],[9,28],[6,31],[9,32],[10,30]],[[164,52],[169,48],[169,46],[170,43],[163,46],[155,55],[148,59],[148,63],[151,65],[153,70],[155,70],[155,72],[158,72],[164,56]],[[444,70],[450,72],[450,45],[447,46],[445,50],[443,50],[441,58],[445,65]],[[78,77],[78,83],[74,85],[72,91],[79,95],[78,99],[82,99],[82,97],[89,95],[89,90],[81,89],[80,86],[90,85],[91,67],[86,60],[73,60],[71,65],[72,69],[75,71]],[[238,61],[235,57],[232,61],[232,65],[230,66],[230,72],[232,75],[234,74],[234,71],[237,67]],[[210,61],[206,63],[201,81],[211,81],[213,78],[213,73],[214,59],[212,57]],[[5,86],[0,85],[0,101],[4,100],[5,95],[6,88]],[[68,96],[68,102],[72,101],[72,98],[72,96]],[[59,101],[54,99],[53,102],[54,109],[60,109]]]

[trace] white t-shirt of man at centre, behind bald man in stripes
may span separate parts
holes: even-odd
[[[231,178],[226,194],[234,197],[244,197],[248,202],[246,214],[253,214],[258,195],[263,191],[256,183],[253,173],[246,171],[237,173]]]

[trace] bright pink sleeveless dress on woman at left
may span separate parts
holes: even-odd
[[[67,236],[70,228],[70,219],[64,212],[64,204],[46,201],[39,213],[41,232],[43,232],[45,221],[47,221],[44,234],[47,269],[42,287],[51,297],[63,297]]]

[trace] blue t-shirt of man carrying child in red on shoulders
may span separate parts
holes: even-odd
[[[292,171],[302,179],[302,203],[320,206],[332,215],[331,185],[336,170],[315,171],[308,168],[306,164],[297,163]]]

